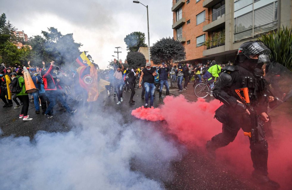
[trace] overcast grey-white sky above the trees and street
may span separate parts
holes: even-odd
[[[117,56],[115,47],[122,47],[119,58],[126,59],[124,38],[131,32],[144,32],[147,39],[147,12],[132,0],[0,0],[0,11],[7,20],[31,37],[41,35],[48,27],[63,35],[73,33],[100,68]],[[149,7],[150,45],[162,37],[173,36],[171,0],[142,0]]]

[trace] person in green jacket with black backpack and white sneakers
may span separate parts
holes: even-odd
[[[24,73],[23,70],[21,72],[18,72],[16,76],[17,79],[14,79],[14,80],[18,80],[18,84],[21,87],[21,91],[16,94],[16,96],[23,103],[21,112],[19,114],[19,119],[22,119],[23,121],[30,121],[32,120],[32,118],[29,118],[29,115],[27,115],[28,107],[29,107],[29,97],[28,97],[28,94],[25,93],[26,88],[24,84],[23,73]]]

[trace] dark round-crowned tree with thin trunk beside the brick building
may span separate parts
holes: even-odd
[[[150,47],[151,59],[155,64],[164,62],[171,70],[171,63],[185,60],[186,52],[184,46],[173,38],[162,38]],[[170,88],[173,88],[170,80]]]

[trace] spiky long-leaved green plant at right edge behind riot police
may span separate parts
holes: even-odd
[[[270,49],[271,61],[277,61],[292,71],[292,30],[283,27],[277,32],[262,35],[259,40],[263,41]]]

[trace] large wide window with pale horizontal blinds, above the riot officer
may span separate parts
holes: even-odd
[[[242,0],[237,2],[240,1]],[[278,1],[268,4],[267,0],[259,0],[235,11],[234,42],[256,38],[261,34],[277,29],[277,19]]]

